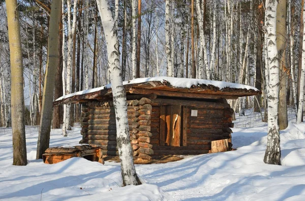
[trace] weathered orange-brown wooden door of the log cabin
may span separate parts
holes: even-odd
[[[160,112],[160,145],[180,146],[181,105],[166,105]]]

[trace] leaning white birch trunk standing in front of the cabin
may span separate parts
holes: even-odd
[[[121,164],[123,185],[141,184],[135,170],[127,118],[126,92],[121,79],[119,64],[119,45],[115,26],[107,0],[97,0],[107,45],[108,64],[110,67],[113,105],[116,118],[116,142]],[[115,5],[118,7],[118,4]]]

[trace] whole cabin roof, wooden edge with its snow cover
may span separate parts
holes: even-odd
[[[145,77],[136,78],[131,81],[123,82],[127,93],[128,89],[141,88],[146,90],[171,91],[181,93],[197,93],[197,94],[217,94],[222,96],[251,96],[260,93],[254,87],[248,85],[241,85],[236,83],[227,83],[222,81],[210,81],[206,79],[193,79],[193,78],[177,78],[177,77]],[[136,91],[136,90],[134,90]],[[143,90],[142,90],[143,91]],[[103,92],[103,93],[97,93]],[[131,92],[133,94],[142,94],[140,92]],[[111,94],[111,84],[94,89],[83,90],[72,94],[64,95],[55,100],[54,103],[69,102],[73,98],[80,99],[95,99],[97,96]],[[169,95],[170,96],[170,95]],[[77,98],[78,97],[78,98]],[[66,100],[66,101],[64,101]]]

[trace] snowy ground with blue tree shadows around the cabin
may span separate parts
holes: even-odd
[[[28,165],[12,166],[11,129],[0,128],[0,199],[3,200],[305,200],[305,124],[281,131],[282,166],[263,163],[266,123],[251,110],[236,115],[236,151],[186,156],[167,164],[137,165],[144,185],[120,187],[119,164],[84,158],[47,165],[36,160],[37,127],[26,127]],[[289,114],[293,122],[294,114]],[[295,121],[295,120],[294,120]],[[244,128],[247,127],[247,128]],[[52,130],[50,146],[74,145]]]

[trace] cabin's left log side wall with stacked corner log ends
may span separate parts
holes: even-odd
[[[150,100],[128,100],[127,115],[131,145],[135,157],[151,159],[154,154],[150,144]],[[118,155],[116,146],[115,111],[112,101],[88,102],[82,105],[80,143],[97,144],[103,155]]]

